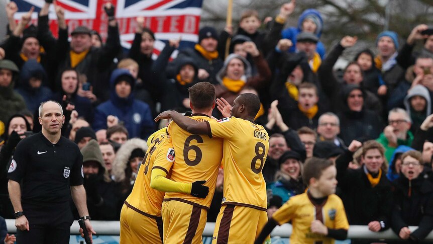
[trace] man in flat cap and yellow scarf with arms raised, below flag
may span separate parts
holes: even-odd
[[[112,65],[113,59],[121,49],[119,28],[115,17],[115,7],[111,3],[104,5],[104,10],[109,17],[108,37],[105,45],[101,48],[92,47],[91,32],[85,26],[78,26],[71,32],[71,41],[68,41],[68,28],[65,21],[64,10],[56,6],[56,14],[59,24],[59,38],[57,40],[51,34],[48,26],[49,3],[46,3],[39,13],[38,37],[43,46],[55,45],[55,62],[58,70],[75,68],[78,73],[84,74],[87,82],[91,84],[92,90],[97,98],[104,91],[107,79],[101,78],[100,74]],[[89,94],[91,96],[91,94]]]

